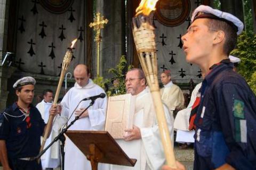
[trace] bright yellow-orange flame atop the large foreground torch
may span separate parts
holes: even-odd
[[[140,5],[136,9],[136,15],[140,13],[149,15],[151,11],[156,10],[155,6],[158,0],[141,0]]]

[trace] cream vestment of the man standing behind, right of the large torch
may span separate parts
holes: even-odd
[[[184,96],[179,86],[171,82],[161,88],[161,98],[172,114],[175,108],[184,106]]]

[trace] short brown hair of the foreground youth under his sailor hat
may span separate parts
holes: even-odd
[[[223,52],[227,55],[236,47],[237,34],[236,30],[229,23],[221,20],[207,19],[206,26],[212,30],[222,30],[225,33],[225,42]]]

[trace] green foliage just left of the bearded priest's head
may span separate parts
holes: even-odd
[[[127,61],[125,59],[125,55],[122,55],[119,63],[117,64],[116,68],[111,68],[108,70],[108,72],[114,74],[114,77],[112,78],[113,80],[118,79],[119,84],[117,85],[116,88],[111,88],[108,91],[108,96],[113,96],[113,95],[121,95],[125,94],[125,73],[126,73],[126,68],[127,68]],[[128,66],[128,70],[132,69],[133,66]],[[114,90],[117,90],[117,94],[113,93]]]

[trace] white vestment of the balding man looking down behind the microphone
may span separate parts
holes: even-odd
[[[77,104],[84,98],[90,96],[98,95],[100,93],[105,93],[105,91],[98,85],[94,84],[91,79],[89,83],[81,87],[75,83],[74,87],[70,88],[67,94],[63,97],[61,101],[62,111],[61,116],[55,120],[54,129],[59,129],[63,126],[68,118],[68,124],[75,119],[75,113],[72,112],[76,108]],[[91,100],[82,101],[77,109],[86,108],[89,106]],[[103,130],[106,119],[106,109],[107,109],[107,97],[104,99],[96,99],[93,106],[88,109],[89,116],[79,118],[68,130],[77,131],[92,131],[92,130]],[[65,170],[76,169],[76,170],[90,170],[90,161],[86,159],[84,154],[76,147],[76,145],[71,142],[68,137],[66,138],[65,145]],[[105,165],[99,164],[98,169],[106,169]]]

